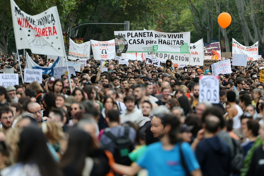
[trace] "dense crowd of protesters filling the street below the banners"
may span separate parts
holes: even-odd
[[[264,173],[264,60],[219,74],[219,103],[211,104],[199,102],[199,78],[212,75],[203,66],[110,60],[102,72],[91,58],[70,80],[23,84],[24,56],[0,55],[0,71],[20,77],[0,87],[1,176]]]

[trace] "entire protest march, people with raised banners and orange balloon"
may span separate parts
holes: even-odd
[[[30,15],[10,5],[1,176],[263,175],[259,41],[232,38],[223,52],[221,41],[191,43],[190,31],[144,28],[67,46],[60,6]],[[224,36],[231,15],[216,21]]]

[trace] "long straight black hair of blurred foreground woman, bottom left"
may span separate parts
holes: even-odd
[[[18,162],[35,162],[42,176],[62,175],[52,158],[44,134],[37,126],[26,127],[20,134]]]

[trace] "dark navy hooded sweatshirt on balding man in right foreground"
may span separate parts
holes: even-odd
[[[230,148],[218,136],[201,141],[195,153],[203,176],[229,176],[231,173]]]

